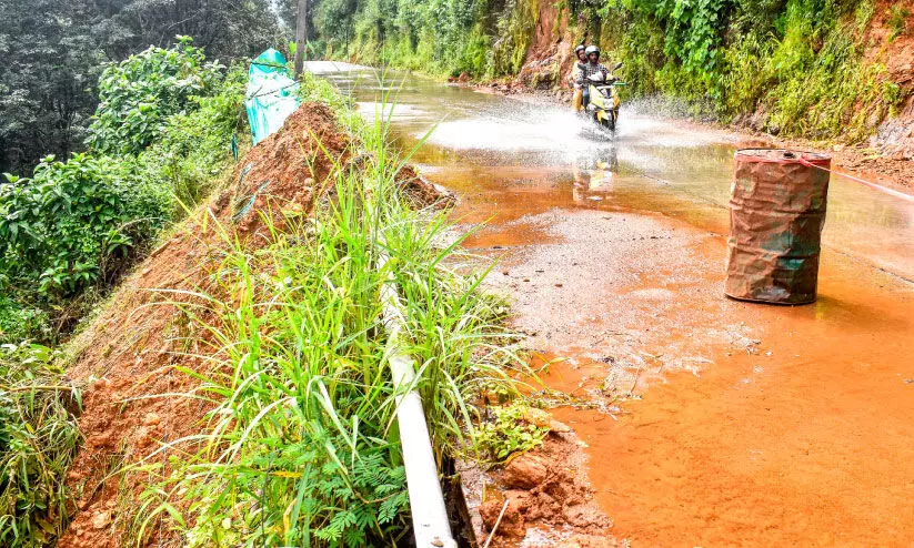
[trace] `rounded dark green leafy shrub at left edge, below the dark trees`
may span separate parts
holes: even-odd
[[[167,189],[130,162],[73,154],[46,158],[31,179],[0,183],[0,275],[50,301],[110,282],[168,217]]]

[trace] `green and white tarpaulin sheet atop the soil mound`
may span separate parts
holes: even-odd
[[[299,84],[289,78],[282,53],[270,48],[254,59],[244,99],[254,144],[282,128],[289,114],[295,112],[301,103],[298,89]]]

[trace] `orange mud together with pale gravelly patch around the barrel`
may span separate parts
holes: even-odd
[[[544,237],[515,241],[490,283],[559,358],[545,384],[584,407],[554,416],[586,443],[614,537],[910,545],[914,286],[826,250],[814,305],[740,303],[724,239],[683,221],[553,210],[494,241],[518,225]]]

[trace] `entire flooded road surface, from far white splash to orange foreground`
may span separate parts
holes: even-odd
[[[634,546],[914,541],[914,202],[833,175],[820,298],[722,295],[737,134],[312,65],[454,190]],[[433,131],[432,131],[433,130]],[[431,134],[429,132],[432,131]]]

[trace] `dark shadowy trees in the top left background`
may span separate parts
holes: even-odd
[[[283,18],[292,13],[288,0]],[[188,35],[228,64],[285,43],[271,0],[0,0],[0,172],[83,150],[106,62]],[[103,98],[102,98],[103,99]]]

